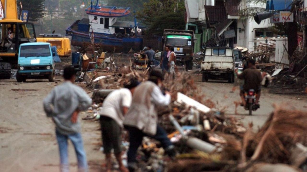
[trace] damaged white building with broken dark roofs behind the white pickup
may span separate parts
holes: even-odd
[[[244,9],[265,8],[265,4],[246,0],[185,0],[185,7],[186,29],[194,30],[202,46],[242,46],[253,51],[257,38],[273,37],[273,32],[268,30],[272,26],[270,19],[258,25],[244,13]]]

